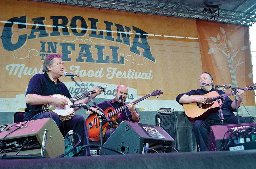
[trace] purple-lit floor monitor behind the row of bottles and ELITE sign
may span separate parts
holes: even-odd
[[[241,127],[241,126],[252,126],[256,125],[256,123],[241,123],[241,124],[227,124],[227,125],[216,125],[211,126],[210,134],[209,134],[209,151],[217,151],[221,148],[222,140],[224,134],[233,127]]]

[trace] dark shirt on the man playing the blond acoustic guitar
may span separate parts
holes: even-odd
[[[179,100],[180,100],[180,98],[181,98],[183,95],[188,95],[188,96],[191,96],[191,95],[204,95],[204,94],[207,94],[207,93],[212,92],[212,91],[214,91],[213,88],[212,88],[210,91],[205,91],[205,90],[203,90],[203,89],[192,90],[192,91],[187,92],[187,93],[179,94],[179,95],[177,96],[177,98],[176,98],[176,101],[177,101],[178,103],[180,103]],[[224,92],[221,91],[221,90],[215,90],[215,91],[218,92],[219,95],[224,94]],[[222,98],[222,99],[221,99],[222,103],[223,103],[223,100],[224,100],[224,99]],[[223,103],[223,105],[222,105],[222,113],[223,113],[223,115],[234,115],[233,112],[236,112],[236,109],[233,109],[233,108],[231,107],[231,103],[232,103],[232,100],[231,100],[229,97],[225,97],[224,103]],[[180,103],[180,104],[183,105],[182,103]],[[217,113],[217,112],[216,112],[216,113]]]

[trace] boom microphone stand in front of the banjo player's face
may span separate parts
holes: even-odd
[[[76,85],[84,92],[84,94],[86,94],[84,89],[80,85],[78,85],[78,83],[75,81],[74,77],[71,77],[71,80],[76,83]],[[96,106],[97,110],[100,111],[100,114],[97,114],[97,116],[99,117],[99,121],[100,121],[100,145],[102,146],[103,145],[102,118],[104,118],[108,122],[112,122],[112,123],[114,123],[116,125],[118,125],[118,124],[116,122],[114,122],[113,120],[110,120],[108,118],[108,116],[98,107],[98,105],[92,100],[92,98],[89,95],[86,94],[86,96]],[[87,142],[88,142],[88,140],[87,140]]]

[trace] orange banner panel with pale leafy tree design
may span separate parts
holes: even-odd
[[[252,86],[248,27],[200,19],[196,20],[196,24],[203,71],[211,72],[216,84],[241,88]],[[254,92],[246,91],[243,102],[247,106],[254,106],[254,95]],[[230,98],[234,99],[233,96]],[[248,115],[247,112],[246,114]]]

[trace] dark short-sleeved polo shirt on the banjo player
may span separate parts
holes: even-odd
[[[36,94],[41,96],[60,94],[71,98],[71,95],[65,84],[62,83],[59,79],[57,79],[57,84],[55,84],[55,82],[50,79],[47,73],[35,74],[33,77],[31,77],[26,92],[26,95],[28,94]],[[35,106],[27,104],[27,109],[25,109],[25,111],[25,116],[33,116],[39,112],[42,112],[42,105]]]

